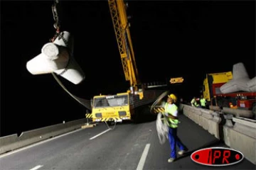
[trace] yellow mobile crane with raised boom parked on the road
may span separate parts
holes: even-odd
[[[149,92],[145,96],[144,89],[139,89],[138,71],[127,20],[127,5],[122,0],[108,0],[108,4],[122,60],[124,76],[130,82],[130,89],[125,93],[111,96],[94,96],[91,103],[92,122],[132,120],[135,114],[135,107],[142,106],[156,98],[154,92]]]

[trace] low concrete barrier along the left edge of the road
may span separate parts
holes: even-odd
[[[85,123],[87,123],[87,119],[73,120],[67,123],[22,132],[19,137],[17,134],[0,137],[0,154],[79,129]]]

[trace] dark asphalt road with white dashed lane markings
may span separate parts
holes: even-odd
[[[108,129],[105,123],[70,132],[39,145],[0,156],[2,170],[43,169],[255,169],[242,162],[225,167],[196,164],[191,153],[204,147],[227,147],[185,115],[180,116],[178,136],[188,147],[187,154],[168,163],[168,142],[160,145],[156,121],[122,123]]]

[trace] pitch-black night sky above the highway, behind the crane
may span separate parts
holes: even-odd
[[[187,96],[207,73],[243,62],[255,73],[255,1],[128,1],[130,32],[143,83],[183,77]],[[26,62],[55,34],[53,1],[1,1],[1,136],[63,120],[85,118],[86,108],[51,74],[32,75]],[[60,1],[60,29],[75,38],[74,57],[85,81],[75,96],[127,91],[107,1]],[[184,93],[182,95],[185,95]]]

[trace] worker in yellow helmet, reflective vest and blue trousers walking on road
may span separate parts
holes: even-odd
[[[178,107],[176,106],[177,97],[174,94],[170,94],[167,99],[167,103],[164,105],[165,115],[168,119],[169,132],[168,139],[171,146],[171,157],[168,159],[168,162],[174,162],[176,159],[176,145],[180,151],[178,154],[182,155],[188,149],[177,136],[178,128]]]

